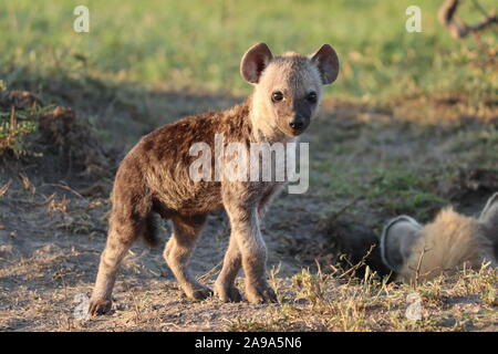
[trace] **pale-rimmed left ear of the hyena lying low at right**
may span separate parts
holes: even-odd
[[[422,236],[422,225],[407,216],[397,217],[384,227],[381,236],[383,262],[395,272],[405,264],[415,241]]]

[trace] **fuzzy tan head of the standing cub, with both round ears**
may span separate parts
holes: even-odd
[[[309,56],[292,52],[273,56],[267,44],[259,43],[243,55],[240,72],[255,84],[252,110],[263,121],[259,127],[298,136],[318,111],[322,86],[338,77],[339,58],[329,44]]]

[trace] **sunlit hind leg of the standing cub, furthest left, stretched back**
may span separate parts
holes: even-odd
[[[144,237],[144,233],[151,231],[148,230],[152,227],[148,225],[151,219],[147,216],[123,217],[116,214],[113,210],[111,216],[107,242],[101,256],[95,287],[90,300],[91,315],[104,314],[111,310],[111,295],[123,258],[138,237]]]

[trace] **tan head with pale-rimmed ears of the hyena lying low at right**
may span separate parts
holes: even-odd
[[[406,282],[428,280],[464,264],[498,267],[498,194],[479,218],[447,208],[426,226],[406,216],[391,220],[381,237],[381,253],[397,280]]]

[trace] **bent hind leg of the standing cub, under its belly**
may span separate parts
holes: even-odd
[[[206,215],[172,217],[173,235],[166,243],[164,259],[190,300],[204,300],[212,291],[200,284],[188,271],[188,261],[206,221]]]

